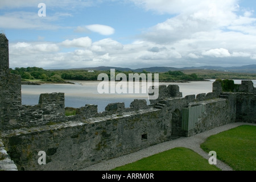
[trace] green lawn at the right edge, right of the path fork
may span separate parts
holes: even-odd
[[[256,126],[243,125],[209,137],[201,148],[236,171],[256,171]]]

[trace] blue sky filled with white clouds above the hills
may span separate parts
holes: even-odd
[[[255,10],[249,0],[0,0],[0,32],[10,68],[238,67],[256,64]]]

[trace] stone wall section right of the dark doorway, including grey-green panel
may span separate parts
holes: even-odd
[[[232,97],[232,96],[230,96]],[[183,130],[185,137],[203,133],[215,127],[234,122],[236,113],[233,112],[231,101],[224,98],[214,100],[192,102],[187,108],[183,108]],[[186,121],[187,119],[187,121]]]

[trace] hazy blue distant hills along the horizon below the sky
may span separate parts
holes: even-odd
[[[184,71],[184,70],[213,70],[213,71],[228,71],[228,72],[240,72],[240,73],[256,73],[256,64],[245,65],[242,67],[213,67],[213,66],[203,66],[203,67],[184,67],[184,68],[174,68],[174,67],[150,67],[150,68],[138,68],[138,69],[130,69],[130,68],[121,68],[121,67],[94,67],[94,68],[77,68],[77,69],[85,69],[85,70],[94,70],[94,71],[108,71],[110,69],[115,69],[119,71],[134,71],[134,72],[151,72],[151,73],[162,73],[168,71]]]

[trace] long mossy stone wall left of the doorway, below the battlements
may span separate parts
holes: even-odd
[[[147,109],[2,134],[19,170],[76,170],[170,140],[170,115]],[[45,151],[47,164],[38,164]]]

